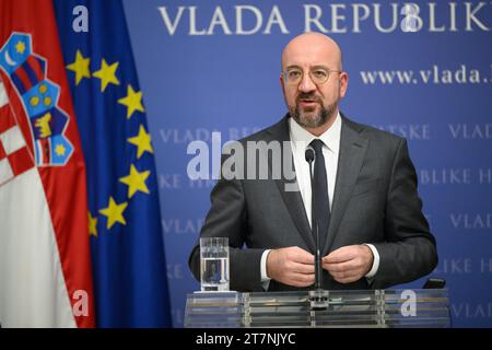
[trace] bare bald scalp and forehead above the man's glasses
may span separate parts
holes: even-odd
[[[282,51],[282,70],[293,61],[308,60],[309,57],[320,57],[330,69],[342,70],[342,55],[338,44],[320,33],[304,33],[285,46]]]

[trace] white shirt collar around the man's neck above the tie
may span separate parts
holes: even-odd
[[[341,117],[340,112],[335,117],[335,121],[331,127],[323,132],[318,138],[313,133],[304,129],[302,126],[294,120],[294,118],[289,118],[289,127],[291,133],[291,141],[297,143],[302,142],[307,144],[314,139],[320,139],[325,145],[333,153],[338,153],[340,148],[340,136],[341,136]]]

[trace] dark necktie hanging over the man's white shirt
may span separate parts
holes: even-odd
[[[313,187],[316,191],[312,210],[318,221],[319,228],[319,249],[323,252],[328,226],[330,224],[330,202],[328,199],[328,177],[326,176],[325,158],[323,156],[323,141],[315,139],[309,143],[315,150],[315,165],[313,175]],[[312,223],[314,224],[314,223]],[[315,237],[316,238],[316,237]]]

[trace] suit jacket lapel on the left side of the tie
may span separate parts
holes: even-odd
[[[289,117],[283,118],[280,122],[274,125],[271,129],[268,130],[271,140],[280,141],[282,144],[283,142],[290,142],[290,133],[289,133]],[[293,154],[292,149],[290,147],[282,148],[284,152],[288,152],[288,154],[282,154],[283,159],[291,159],[293,164]],[[269,166],[270,166],[270,174],[271,174],[271,159],[269,159]],[[294,182],[295,186],[297,186],[296,180]],[[307,247],[314,252],[315,250],[315,243],[313,238],[313,234],[311,232],[309,221],[307,220],[306,210],[304,209],[303,198],[301,196],[301,192],[298,190],[285,190],[285,185],[289,185],[290,187],[294,184],[292,180],[288,180],[284,177],[284,174],[282,172],[282,176],[280,179],[276,179],[277,187],[279,188],[280,195],[282,196],[282,199],[285,203],[285,207],[289,210],[289,213],[291,214],[292,221],[294,222],[297,232],[303,237],[304,242],[306,243]],[[297,187],[298,188],[298,187]]]

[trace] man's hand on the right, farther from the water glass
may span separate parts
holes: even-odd
[[[366,245],[349,245],[323,258],[323,268],[337,282],[351,283],[367,275],[373,266],[373,252]]]

